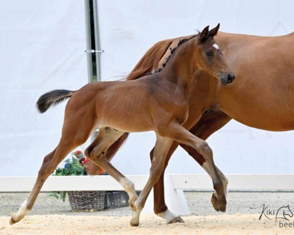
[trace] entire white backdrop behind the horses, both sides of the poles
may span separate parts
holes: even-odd
[[[208,24],[234,33],[292,32],[293,7],[291,0],[98,0],[102,80],[131,71],[154,43]],[[84,12],[82,0],[1,1],[0,176],[36,175],[58,143],[66,102],[42,115],[35,102],[87,83]],[[225,173],[294,173],[293,136],[231,121],[208,142]],[[113,164],[125,174],[147,174],[154,142],[151,132],[131,134]],[[178,148],[167,172],[203,170]]]

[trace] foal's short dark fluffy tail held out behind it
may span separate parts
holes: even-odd
[[[55,106],[65,99],[71,97],[73,93],[74,91],[54,90],[42,94],[36,103],[37,109],[41,114],[45,113],[51,106]]]

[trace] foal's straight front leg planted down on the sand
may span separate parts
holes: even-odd
[[[169,138],[162,137],[156,133],[156,143],[154,147],[154,153],[150,168],[150,175],[148,181],[140,193],[138,199],[134,203],[134,211],[131,220],[131,226],[139,225],[139,217],[142,209],[144,208],[147,197],[150,193],[151,188],[158,181],[166,160],[168,151],[172,145],[173,140]]]

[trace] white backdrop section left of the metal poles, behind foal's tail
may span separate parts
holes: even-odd
[[[66,102],[39,114],[38,97],[88,82],[83,0],[1,0],[0,176],[36,175],[57,145]]]

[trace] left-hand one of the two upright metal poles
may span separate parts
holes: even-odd
[[[86,42],[87,50],[92,50],[91,44],[91,23],[90,23],[90,1],[85,0],[85,17],[86,17]],[[92,82],[93,79],[93,64],[92,64],[92,53],[87,54],[88,64],[88,81]]]

